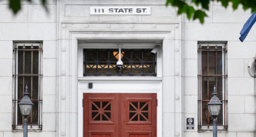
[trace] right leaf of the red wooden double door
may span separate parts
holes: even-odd
[[[121,136],[157,136],[157,94],[121,94]]]

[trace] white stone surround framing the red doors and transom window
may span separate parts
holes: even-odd
[[[162,121],[157,136],[182,136],[184,123],[181,27],[177,23],[59,23],[57,48],[57,136],[79,136],[78,41],[154,40],[163,44]],[[159,131],[160,129],[160,131]]]

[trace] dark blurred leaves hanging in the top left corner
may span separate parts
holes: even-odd
[[[14,14],[18,13],[19,10],[22,9],[22,2],[32,2],[32,0],[8,0],[9,2],[9,8],[11,8],[12,12]],[[45,9],[47,10],[46,5],[46,0],[41,0],[42,5],[45,7]]]

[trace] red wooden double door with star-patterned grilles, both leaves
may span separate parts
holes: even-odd
[[[157,94],[83,94],[83,137],[157,137]]]

